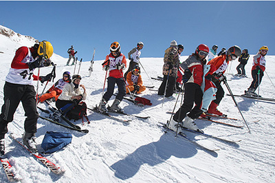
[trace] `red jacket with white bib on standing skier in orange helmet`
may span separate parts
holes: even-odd
[[[126,68],[126,58],[124,54],[120,53],[117,57],[114,57],[112,54],[106,56],[104,65],[109,65],[109,76],[113,78],[122,78],[123,77],[123,69],[116,69],[115,65],[120,63],[120,65],[124,65]],[[103,67],[104,67],[103,65]]]

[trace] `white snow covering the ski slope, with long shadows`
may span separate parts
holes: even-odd
[[[0,30],[2,29],[8,28],[0,26]],[[30,39],[29,36],[19,37],[15,34],[12,37],[7,37],[0,34],[1,88],[5,83],[5,76],[10,69],[15,50],[21,45],[31,46],[34,41],[35,39]],[[129,47],[129,50],[131,48]],[[124,54],[127,53],[124,52]],[[245,67],[248,78],[237,78],[231,75],[232,73],[236,74],[235,68],[238,61],[233,61],[232,65],[229,65],[227,73],[230,74],[226,74],[226,76],[233,94],[243,94],[243,91],[250,86],[252,56],[253,54],[250,55],[248,65]],[[186,58],[187,56],[181,56],[181,61]],[[274,82],[275,56],[267,55],[266,60],[266,72]],[[61,78],[65,71],[74,73],[74,66],[64,66],[67,58],[54,54],[52,61],[57,64],[55,81]],[[102,62],[95,61],[94,72],[90,77],[87,76],[89,62],[82,63],[80,68],[80,75],[83,76],[81,83],[87,88],[88,96],[85,102],[88,107],[94,107],[100,103],[102,98],[105,76],[105,72],[101,69]],[[163,58],[141,58],[141,63],[148,76],[162,76]],[[155,89],[157,89],[161,81],[148,78],[144,69],[142,69],[144,84],[155,85]],[[42,68],[41,75],[48,74],[51,70],[52,67]],[[76,71],[78,71],[78,65]],[[270,82],[267,74],[265,73],[263,76],[260,94],[263,97],[275,98],[274,85]],[[52,84],[49,83],[47,89]],[[45,84],[42,86],[39,83],[39,92],[42,92],[43,87]],[[225,94],[229,93],[225,85],[223,85],[223,89]],[[89,110],[87,112],[91,124],[82,125],[81,120],[74,122],[82,129],[89,129],[89,133],[71,131],[39,118],[36,141],[41,151],[43,149],[40,144],[46,131],[72,133],[72,144],[61,151],[45,155],[46,158],[66,170],[63,175],[51,173],[47,167],[8,136],[10,133],[20,136],[24,131],[25,113],[20,104],[13,122],[8,125],[9,131],[5,136],[5,146],[6,156],[10,163],[14,166],[17,174],[23,177],[21,182],[275,182],[274,102],[235,98],[248,122],[251,133],[248,133],[246,127],[239,129],[197,120],[197,126],[205,133],[241,140],[236,144],[229,144],[197,136],[194,133],[187,133],[188,137],[205,146],[220,149],[213,153],[197,147],[184,138],[175,138],[174,133],[164,133],[164,130],[157,126],[158,122],[166,122],[170,119],[170,114],[166,114],[166,111],[173,111],[176,100],[163,100],[162,97],[157,96],[157,92],[148,89],[140,96],[151,100],[153,105],[137,107],[122,100],[121,107],[129,114],[151,116],[151,118],[140,120],[131,116],[118,116],[118,118],[131,119],[130,125],[104,118]],[[177,97],[176,94],[174,96]],[[3,89],[0,90],[0,98],[0,105],[3,105]],[[114,97],[109,101],[109,105],[113,99]],[[180,97],[176,110],[179,108],[179,104]],[[39,104],[39,106],[45,108],[43,104]],[[219,120],[244,125],[231,96],[224,96],[219,110],[232,118],[239,119],[237,121]],[[41,111],[39,114],[46,116]],[[8,182],[2,168],[0,168],[0,182]]]

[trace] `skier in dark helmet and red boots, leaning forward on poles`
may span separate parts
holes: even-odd
[[[223,54],[217,56],[216,58],[213,58],[211,61],[208,62],[208,65],[214,65],[214,67],[216,67],[216,70],[212,74],[211,79],[217,87],[216,99],[212,100],[210,107],[208,108],[209,114],[216,114],[219,116],[223,115],[223,113],[221,113],[221,111],[217,109],[219,103],[221,103],[221,100],[224,96],[224,90],[223,87],[221,87],[221,81],[226,80],[223,74],[225,72],[225,69],[228,67],[228,63],[230,61],[236,60],[238,56],[241,56],[241,48],[237,45],[234,45],[230,47],[227,52],[223,52]]]

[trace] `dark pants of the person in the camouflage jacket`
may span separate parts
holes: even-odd
[[[165,87],[166,87],[166,82],[168,78],[168,84],[167,84],[167,89],[166,89],[166,97],[173,96],[174,93],[174,88],[175,88],[175,83],[176,83],[176,78],[173,76],[164,75],[164,79],[162,81],[162,84],[159,87],[158,95],[163,96],[165,92]]]

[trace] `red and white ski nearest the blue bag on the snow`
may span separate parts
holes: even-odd
[[[65,170],[62,169],[59,166],[56,166],[56,164],[52,163],[50,160],[47,160],[47,158],[45,158],[43,155],[41,155],[40,153],[32,153],[32,151],[30,151],[30,149],[28,149],[28,147],[26,147],[23,142],[21,142],[20,140],[17,140],[17,138],[15,138],[12,134],[10,134],[10,137],[15,140],[16,142],[18,142],[22,147],[24,147],[27,151],[29,151],[37,160],[39,160],[42,164],[44,164],[47,168],[50,169],[50,171],[52,171],[55,174],[61,174],[61,173],[65,173]]]

